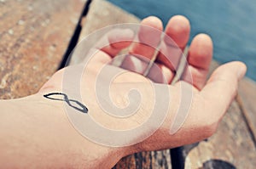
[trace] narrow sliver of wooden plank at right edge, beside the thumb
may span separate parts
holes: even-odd
[[[247,119],[247,125],[253,134],[254,144],[256,144],[256,83],[245,78],[239,85],[238,102]]]

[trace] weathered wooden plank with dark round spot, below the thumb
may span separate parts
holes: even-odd
[[[218,64],[212,62],[211,71]],[[250,88],[252,89],[252,88]],[[254,168],[256,149],[240,105],[235,100],[207,141],[183,147],[186,168]]]

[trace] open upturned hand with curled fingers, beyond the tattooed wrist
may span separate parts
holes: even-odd
[[[83,73],[80,76],[82,85],[79,92],[81,102],[89,109],[90,117],[108,129],[128,130],[142,126],[152,115],[155,99],[160,99],[155,97],[154,93],[151,93],[152,88],[157,87],[157,90],[160,91],[162,89],[164,99],[167,91],[169,98],[162,102],[168,104],[168,106],[165,108],[163,104],[163,107],[158,109],[160,115],[163,115],[161,110],[165,111],[165,118],[160,123],[155,120],[157,124],[150,124],[144,132],[134,133],[134,135],[131,135],[131,140],[129,140],[130,135],[127,135],[125,140],[129,140],[127,145],[132,148],[129,153],[141,150],[173,148],[210,137],[217,129],[218,122],[236,96],[237,83],[244,76],[246,66],[241,62],[221,65],[207,80],[212,60],[212,40],[206,34],[200,34],[194,37],[190,44],[188,63],[184,67],[183,75],[179,81],[172,83],[182,56],[181,51],[184,50],[189,41],[189,20],[183,16],[172,17],[166,25],[165,33],[168,37],[161,37],[161,34],[158,33],[163,31],[163,26],[156,17],[144,19],[141,25],[153,27],[154,30],[158,31],[152,31],[152,29],[146,29],[142,26],[137,34],[140,42],[132,42],[135,36],[132,31],[112,32],[102,38],[103,41],[107,40],[110,45],[100,48],[95,56],[90,59],[86,69],[81,64],[58,71],[41,88],[39,93],[63,91],[64,88],[67,93],[72,94],[75,80],[73,81],[71,76],[67,81],[68,84],[63,85],[62,82],[66,82],[63,81],[63,76],[75,75],[82,70]],[[170,41],[170,37],[176,44]],[[119,39],[124,38],[131,39],[131,41],[118,42]],[[145,43],[152,45],[146,45]],[[155,48],[152,48],[154,45],[159,47],[157,54],[155,54]],[[109,64],[113,62],[113,59],[123,48],[129,46],[128,54],[119,67]],[[152,59],[154,59],[154,65],[148,70],[148,64]],[[102,75],[99,72],[103,72]],[[108,75],[114,73],[119,73],[119,76],[111,81],[112,83],[109,86]],[[100,91],[96,91],[96,84],[99,82],[101,82],[101,85],[98,86]],[[96,90],[94,90],[95,88]],[[108,89],[110,96],[104,93],[104,88]],[[137,99],[132,101],[127,96],[132,88],[140,91],[142,103],[137,113],[130,115],[125,106],[137,102]],[[74,94],[73,98],[75,97]],[[186,98],[189,98],[189,101]],[[112,112],[109,112],[111,115],[106,113],[106,110],[102,110],[104,105],[108,106],[108,104],[113,103],[118,109],[113,109],[111,106],[106,108],[107,111],[112,110]],[[189,109],[183,109],[186,107],[189,107]],[[122,108],[125,111],[121,111]],[[132,106],[130,108],[133,110]],[[114,110],[120,110],[120,112],[113,112]],[[181,114],[183,120],[179,121],[178,126],[174,127],[174,132],[172,132],[172,125],[175,124],[177,115]],[[123,115],[122,117],[125,118],[118,118],[118,115]],[[94,129],[90,128],[90,130],[93,131]],[[149,132],[151,134],[143,138],[142,135],[147,135]],[[96,135],[101,138],[101,133],[96,133]],[[109,135],[109,137],[112,136]],[[112,139],[116,141],[108,145],[119,146],[120,144],[116,143],[124,141],[122,138]]]

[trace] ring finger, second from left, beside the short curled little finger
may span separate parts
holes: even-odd
[[[138,42],[133,42],[121,65],[126,70],[132,70],[143,74],[148,67],[150,59],[154,56],[154,50],[160,43],[163,25],[160,19],[150,16],[142,20],[137,33]],[[138,66],[138,67],[137,67]]]

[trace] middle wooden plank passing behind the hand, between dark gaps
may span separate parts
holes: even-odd
[[[80,40],[107,25],[119,23],[138,23],[139,20],[131,15],[125,13],[122,9],[113,6],[111,3],[102,0],[94,0],[90,4],[89,13],[84,19],[84,26],[80,36]],[[71,59],[71,65],[78,64],[84,58],[75,56]],[[137,153],[123,158],[114,166],[116,169],[121,168],[172,168],[170,150],[153,151]]]

